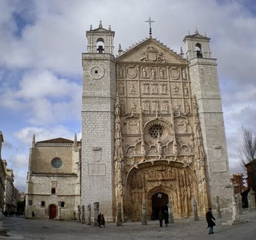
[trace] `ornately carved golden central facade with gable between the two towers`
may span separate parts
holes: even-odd
[[[174,216],[208,207],[205,154],[188,62],[150,38],[116,59],[115,199],[125,220],[152,217],[157,193]]]

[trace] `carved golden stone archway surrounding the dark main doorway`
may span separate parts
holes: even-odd
[[[151,197],[159,191],[173,202],[175,218],[192,215],[191,200],[198,199],[195,173],[188,165],[178,161],[155,160],[142,162],[127,175],[124,198],[126,219],[141,219],[141,204],[146,203],[148,219],[152,214]]]

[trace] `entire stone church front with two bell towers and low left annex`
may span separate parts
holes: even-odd
[[[198,31],[185,36],[186,58],[152,37],[126,52],[119,45],[114,57],[111,27],[100,23],[86,35],[82,139],[33,141],[27,214],[36,210],[49,218],[49,206],[66,201],[66,209],[56,211],[72,219],[78,205],[98,202],[105,220],[115,221],[120,203],[123,221],[136,221],[142,203],[148,219],[155,219],[172,201],[174,218],[187,218],[194,200],[202,215],[216,208],[217,196],[228,209],[226,137],[210,38]],[[56,157],[68,168],[51,166]],[[55,183],[61,194],[52,196]]]

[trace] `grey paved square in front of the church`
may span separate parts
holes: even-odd
[[[195,222],[193,219],[176,220],[168,227],[159,227],[159,221],[149,221],[143,226],[140,222],[124,223],[117,227],[114,223],[106,228],[88,226],[77,222],[55,220],[26,220],[8,217],[4,227],[9,228],[9,236],[0,239],[256,239],[256,211],[244,211],[243,217],[250,223],[237,226],[222,226],[231,219],[231,214],[223,214],[217,219],[215,233],[208,235],[205,218]]]

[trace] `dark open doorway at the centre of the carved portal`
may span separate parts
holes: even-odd
[[[156,193],[151,197],[152,201],[152,220],[158,219],[158,214],[161,211],[162,213],[166,210],[168,211],[168,202],[169,197],[164,193]]]

